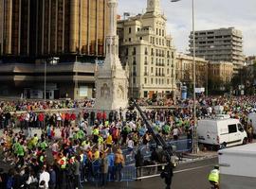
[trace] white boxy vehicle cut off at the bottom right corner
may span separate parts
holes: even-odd
[[[256,144],[219,150],[220,188],[255,189]]]

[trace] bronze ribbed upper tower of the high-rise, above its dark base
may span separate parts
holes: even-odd
[[[106,0],[2,0],[1,55],[104,55]]]

